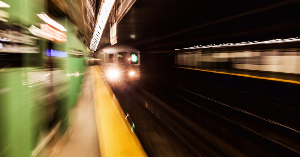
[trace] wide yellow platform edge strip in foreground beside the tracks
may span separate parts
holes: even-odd
[[[137,135],[98,66],[90,67],[101,157],[146,157]]]

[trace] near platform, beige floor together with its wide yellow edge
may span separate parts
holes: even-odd
[[[86,71],[82,95],[70,110],[69,129],[44,156],[147,156],[98,66]]]

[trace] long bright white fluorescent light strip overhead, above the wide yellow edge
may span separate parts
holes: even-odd
[[[115,0],[105,0],[102,4],[102,8],[100,10],[100,14],[98,14],[99,18],[94,28],[94,34],[91,39],[90,49],[96,51],[98,44],[100,42],[105,24],[107,22],[110,11],[113,7]]]

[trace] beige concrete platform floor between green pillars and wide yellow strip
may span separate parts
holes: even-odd
[[[100,156],[95,108],[92,93],[92,79],[86,71],[82,94],[70,110],[70,132],[48,152],[48,157],[98,157]]]

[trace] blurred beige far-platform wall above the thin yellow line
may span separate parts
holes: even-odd
[[[299,59],[298,48],[260,50],[249,48],[243,51],[224,48],[179,53],[174,62],[177,65],[193,66],[203,70],[214,69],[237,74],[243,70],[300,74]]]

